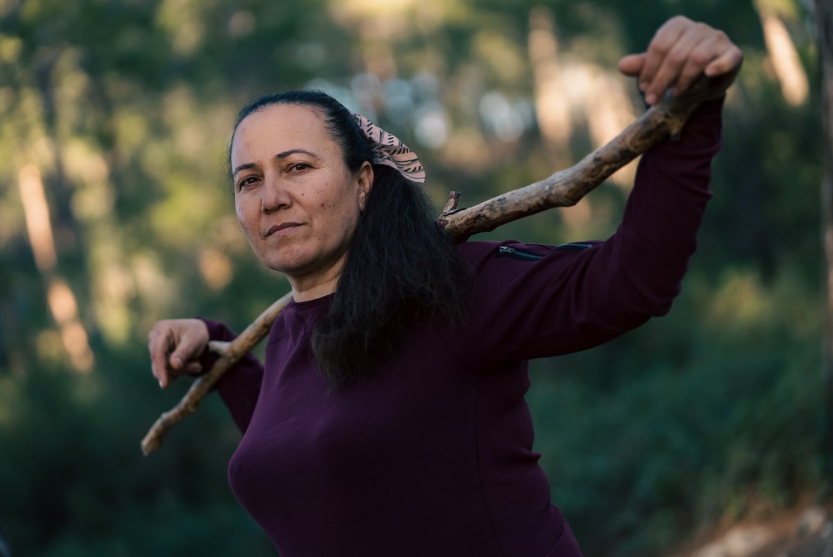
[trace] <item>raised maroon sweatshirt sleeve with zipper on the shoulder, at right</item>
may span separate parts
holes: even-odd
[[[490,369],[576,352],[666,314],[711,198],[722,103],[702,104],[678,141],[643,155],[621,224],[605,242],[463,244],[476,284],[456,344],[478,349],[459,359]]]

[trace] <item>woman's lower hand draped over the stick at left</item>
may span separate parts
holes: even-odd
[[[180,375],[202,371],[199,357],[208,345],[208,327],[200,319],[163,319],[147,334],[153,377],[165,389]]]

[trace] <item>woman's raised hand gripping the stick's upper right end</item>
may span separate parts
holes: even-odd
[[[701,73],[726,76],[728,88],[742,62],[741,49],[726,33],[677,16],[656,31],[646,52],[622,58],[619,71],[637,78],[645,102],[653,105],[669,88],[682,93]]]

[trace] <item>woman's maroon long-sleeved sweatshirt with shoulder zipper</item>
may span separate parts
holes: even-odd
[[[358,384],[329,389],[312,357],[330,297],[289,304],[265,366],[244,359],[218,384],[243,433],[229,481],[282,557],[581,555],[532,451],[526,360],[666,314],[711,197],[720,124],[721,101],[706,103],[679,142],[644,155],[606,242],[459,245],[476,275],[466,326],[414,326]]]

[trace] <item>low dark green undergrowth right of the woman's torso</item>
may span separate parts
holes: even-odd
[[[787,507],[821,482],[821,314],[801,279],[692,278],[665,318],[534,370],[541,462],[588,554],[656,554],[693,524]],[[691,329],[692,315],[711,325]]]

